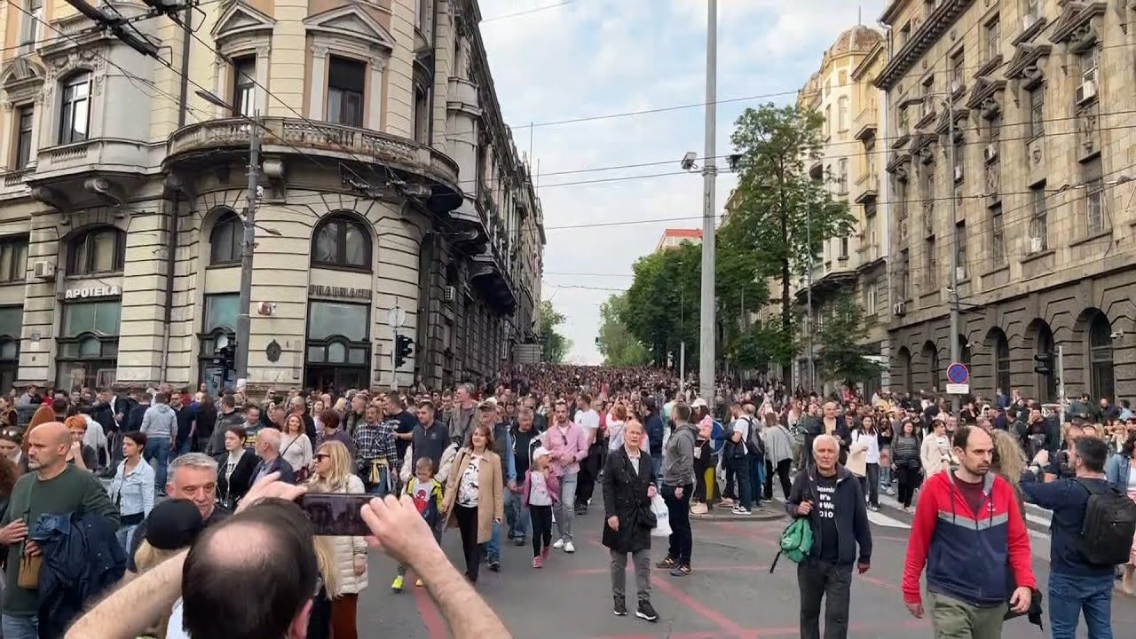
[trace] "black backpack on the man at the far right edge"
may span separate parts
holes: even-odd
[[[1127,564],[1136,534],[1136,503],[1127,495],[1105,486],[1074,480],[1088,491],[1085,522],[1080,528],[1080,551],[1100,566]]]

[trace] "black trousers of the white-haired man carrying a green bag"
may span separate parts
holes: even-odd
[[[825,639],[849,636],[852,564],[808,559],[796,566],[801,590],[801,639],[820,639],[820,603],[825,600]]]

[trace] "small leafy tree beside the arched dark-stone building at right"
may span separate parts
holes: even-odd
[[[818,335],[821,374],[849,388],[878,375],[883,366],[866,358],[868,349],[861,346],[868,337],[863,309],[849,296],[837,298],[829,308]]]

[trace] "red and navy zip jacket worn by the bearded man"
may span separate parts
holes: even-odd
[[[987,473],[983,491],[976,517],[953,473],[943,471],[927,479],[908,539],[904,601],[922,601],[919,574],[924,565],[928,591],[971,605],[1001,605],[1014,588],[1037,588],[1029,533],[1013,488]]]

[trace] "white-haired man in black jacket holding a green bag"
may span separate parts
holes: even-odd
[[[827,434],[812,440],[815,466],[799,473],[785,509],[809,517],[812,548],[796,567],[801,591],[801,638],[820,639],[820,601],[825,605],[825,639],[849,633],[852,564],[860,574],[871,564],[871,529],[860,482],[836,463],[840,443]],[[859,554],[857,553],[859,546]]]

